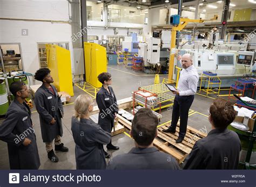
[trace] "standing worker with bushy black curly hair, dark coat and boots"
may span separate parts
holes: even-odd
[[[41,133],[43,142],[46,145],[48,158],[52,162],[58,162],[58,157],[53,151],[53,140],[55,141],[55,150],[68,152],[61,142],[63,106],[56,88],[51,85],[53,78],[50,69],[41,68],[36,71],[35,79],[42,81],[43,84],[35,93],[35,104],[40,117]]]

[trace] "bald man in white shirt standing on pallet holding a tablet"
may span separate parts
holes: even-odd
[[[179,59],[180,57],[178,57]],[[180,117],[179,137],[176,143],[182,142],[185,137],[188,111],[193,103],[194,94],[197,92],[199,80],[197,69],[193,66],[192,56],[190,54],[184,54],[181,57],[181,65],[183,70],[180,72],[178,88],[176,91],[173,91],[176,96],[173,103],[171,126],[163,130],[163,132],[175,133]]]

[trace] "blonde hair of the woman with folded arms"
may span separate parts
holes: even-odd
[[[89,106],[93,103],[91,96],[87,94],[79,95],[75,100],[75,114],[74,117],[80,120],[89,113]]]

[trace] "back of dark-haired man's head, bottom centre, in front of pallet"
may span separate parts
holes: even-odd
[[[158,118],[150,109],[140,109],[132,120],[131,135],[139,146],[149,146],[157,135]]]

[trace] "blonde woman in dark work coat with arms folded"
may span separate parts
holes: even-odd
[[[76,98],[71,130],[76,143],[77,169],[106,168],[103,145],[110,142],[111,134],[90,119],[92,110],[93,100],[89,95]]]

